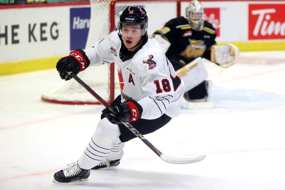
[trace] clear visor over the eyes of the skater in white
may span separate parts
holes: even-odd
[[[118,23],[119,35],[127,37],[137,37],[143,36],[145,34],[145,29],[141,29],[140,24],[126,25]]]

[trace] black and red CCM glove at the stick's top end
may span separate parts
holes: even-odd
[[[69,56],[61,58],[56,64],[56,70],[58,71],[61,79],[70,80],[72,77],[66,72],[73,72],[76,75],[86,69],[90,64],[85,52],[81,49],[70,52]],[[66,75],[68,76],[66,78]]]

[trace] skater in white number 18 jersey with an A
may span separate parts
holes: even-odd
[[[90,169],[117,166],[123,157],[125,142],[136,136],[116,115],[131,122],[141,134],[156,131],[180,114],[184,83],[160,49],[159,43],[147,35],[148,17],[145,9],[127,7],[118,29],[92,48],[75,50],[61,58],[56,68],[62,79],[78,74],[88,66],[115,62],[121,95],[109,109],[102,111],[101,120],[89,144],[77,162],[54,174],[54,183],[87,181]],[[68,76],[66,78],[66,76]]]

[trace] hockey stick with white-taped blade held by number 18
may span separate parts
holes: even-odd
[[[73,72],[67,72],[74,80],[76,80],[80,85],[83,86],[92,96],[94,96],[102,105],[109,108],[110,111],[113,112],[113,108],[104,100],[102,99],[96,92],[94,92],[87,84],[85,84],[77,75]],[[199,162],[203,160],[206,156],[201,155],[192,158],[178,158],[173,156],[168,156],[160,152],[155,146],[153,146],[140,132],[137,131],[125,118],[118,116],[118,118],[122,121],[122,123],[140,140],[142,140],[157,156],[159,156],[164,162],[172,163],[172,164],[191,164],[194,162]]]

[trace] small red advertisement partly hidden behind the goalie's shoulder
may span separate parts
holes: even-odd
[[[205,8],[205,20],[213,25],[217,36],[220,36],[220,8]]]

